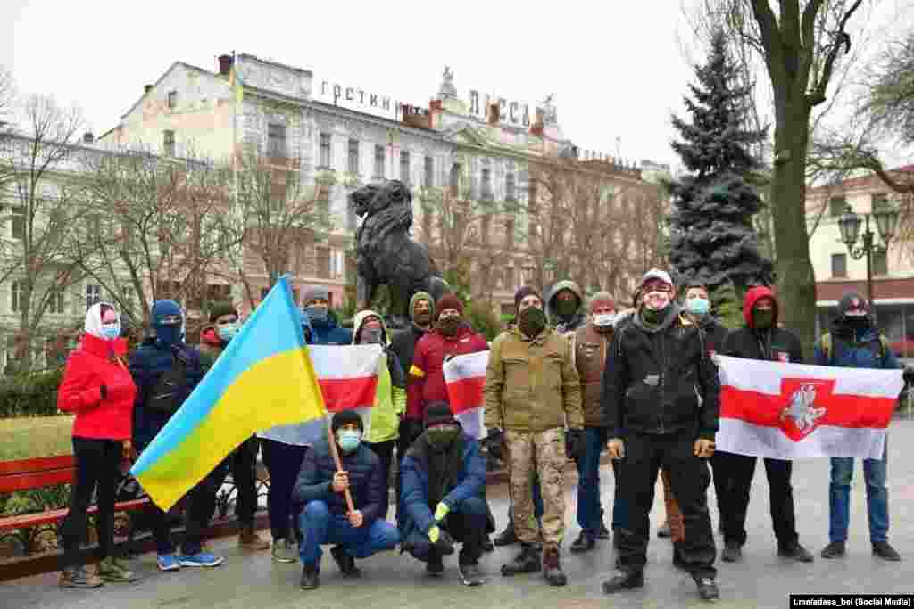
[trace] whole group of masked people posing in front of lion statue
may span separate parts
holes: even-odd
[[[723,535],[720,558],[738,562],[747,541],[756,457],[715,450],[720,404],[716,357],[804,359],[800,341],[781,323],[771,289],[749,290],[745,326],[738,330],[721,326],[711,309],[707,287],[677,289],[670,275],[657,269],[643,276],[632,307],[625,310],[606,292],[585,300],[572,281],[558,282],[545,300],[525,286],[515,294],[515,320],[490,344],[473,331],[461,300],[452,294],[434,302],[429,294],[417,293],[409,302],[411,326],[391,335],[373,310],[360,311],[352,329],[344,328],[326,289],[310,289],[301,311],[306,342],[379,344],[384,349],[369,429],[355,412],[344,411],[333,416],[334,439],[314,446],[308,445],[302,425],[282,425],[251,437],[187,494],[180,548],[171,541],[168,514],[153,507],[158,568],[176,571],[223,562],[207,550],[203,531],[230,471],[238,489],[239,546],[271,548],[277,562],[300,560],[303,589],[320,585],[324,545],[333,546],[330,553],[340,572],[357,577],[356,561],[398,547],[424,562],[431,576],[441,576],[444,558],[460,544],[460,579],[474,586],[485,582],[479,567],[483,553],[494,545],[516,543],[519,550],[502,565],[503,576],[542,572],[548,584],[564,585],[565,467],[571,458],[578,468],[579,534],[569,551],[594,551],[599,541],[611,539],[616,572],[603,583],[605,593],[643,585],[659,473],[666,521],[658,532],[672,539],[673,562],[691,574],[698,595],[717,599],[717,545],[707,488],[713,470]],[[67,362],[58,405],[76,415],[77,476],[63,526],[62,586],[90,588],[136,579],[112,551],[114,486],[122,460],[149,446],[240,327],[231,305],[214,307],[197,348],[186,343],[185,314],[175,301],[155,301],[150,319],[147,338],[128,354],[117,308],[108,302],[93,305],[80,346]],[[443,367],[453,356],[484,351],[489,351],[484,383],[488,435],[477,439],[452,414]],[[899,368],[873,324],[870,303],[855,293],[841,300],[813,362]],[[904,375],[906,382],[914,380],[911,369]],[[486,500],[483,445],[505,460],[511,499],[507,527],[491,541],[495,519]],[[271,543],[254,527],[259,450],[271,480]],[[600,456],[606,451],[615,478],[609,527],[600,495]],[[797,533],[792,462],[764,462],[777,553],[812,562],[813,554]],[[831,467],[830,542],[821,552],[826,559],[845,555],[854,460],[833,457]],[[864,472],[873,554],[898,561],[887,541],[885,455],[866,459]],[[81,564],[79,547],[93,496],[98,500],[99,546],[98,566],[90,569]]]

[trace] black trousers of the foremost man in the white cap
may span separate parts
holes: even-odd
[[[619,559],[626,571],[640,572],[647,562],[650,537],[648,515],[654,505],[657,473],[663,467],[670,474],[673,496],[683,511],[685,541],[680,556],[694,578],[715,577],[717,550],[711,519],[707,513],[707,487],[711,474],[707,459],[693,454],[695,440],[683,436],[634,434],[625,438],[621,494],[628,509],[623,526]]]

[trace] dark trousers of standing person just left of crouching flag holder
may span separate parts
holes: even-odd
[[[267,494],[267,511],[273,541],[288,539],[298,526],[292,525],[292,488],[298,480],[307,446],[295,446],[260,438],[263,463],[270,473],[270,492]]]

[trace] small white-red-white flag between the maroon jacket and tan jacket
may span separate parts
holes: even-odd
[[[456,355],[444,362],[444,382],[448,387],[451,412],[460,421],[463,432],[477,440],[485,436],[483,408],[485,400],[485,366],[489,352]]]

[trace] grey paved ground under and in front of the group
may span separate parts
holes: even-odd
[[[891,509],[890,541],[904,557],[897,563],[883,562],[871,555],[866,525],[866,495],[863,472],[856,466],[852,489],[852,515],[848,555],[844,560],[826,561],[819,557],[828,541],[828,475],[827,459],[798,461],[793,469],[793,487],[797,505],[800,541],[816,556],[813,564],[785,562],[776,556],[768,510],[767,481],[764,468],[756,468],[752,499],[749,504],[749,542],[743,549],[743,562],[718,563],[720,607],[787,607],[790,593],[914,593],[914,524],[907,512],[914,507],[914,422],[893,423],[889,450],[889,507]],[[603,505],[611,507],[613,479],[608,466],[601,472]],[[569,530],[566,546],[579,532],[574,520],[576,478],[569,476],[567,488]],[[654,529],[664,518],[661,488],[651,514]],[[713,490],[710,504],[715,505]],[[501,527],[506,518],[505,485],[489,489],[495,517]],[[712,508],[717,525],[717,509]],[[718,550],[720,538],[717,538]],[[226,556],[216,569],[184,569],[161,573],[155,570],[154,554],[133,561],[143,579],[138,583],[109,584],[97,590],[60,590],[57,573],[45,573],[14,582],[0,583],[0,607],[85,607],[92,609],[139,609],[165,607],[272,609],[285,607],[321,607],[326,609],[398,607],[402,609],[450,609],[452,607],[498,607],[524,609],[563,607],[689,607],[705,606],[696,599],[695,585],[684,572],[671,563],[672,548],[668,541],[655,536],[648,550],[649,564],[643,589],[605,596],[600,583],[611,572],[615,554],[608,541],[600,541],[596,551],[584,555],[563,552],[562,564],[569,584],[553,588],[543,582],[541,574],[503,578],[502,562],[514,548],[496,549],[485,554],[481,562],[488,582],[478,588],[460,585],[456,559],[445,559],[445,577],[430,579],[424,565],[409,555],[387,552],[360,561],[363,576],[347,580],[338,574],[336,565],[324,552],[321,587],[313,592],[298,588],[300,564],[271,562],[270,552],[243,553],[234,540],[215,541],[212,548]]]

